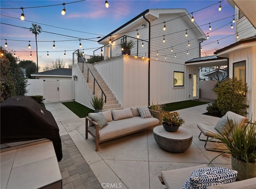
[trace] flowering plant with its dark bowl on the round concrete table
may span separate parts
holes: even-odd
[[[163,120],[163,127],[166,131],[175,132],[178,128],[185,123],[185,121],[179,117],[177,111],[170,112],[164,111],[162,112],[162,120]]]

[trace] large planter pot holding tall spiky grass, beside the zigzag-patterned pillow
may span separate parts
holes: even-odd
[[[236,159],[232,155],[231,157],[232,169],[238,171],[237,180],[245,180],[256,177],[256,162],[255,163],[246,163]]]

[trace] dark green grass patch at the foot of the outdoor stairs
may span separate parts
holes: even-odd
[[[80,118],[88,116],[88,113],[90,112],[94,112],[93,109],[90,109],[78,102],[62,102],[62,104],[73,111]]]

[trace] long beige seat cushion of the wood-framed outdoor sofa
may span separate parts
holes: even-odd
[[[159,120],[154,117],[142,119],[140,116],[120,119],[118,121],[110,121],[108,122],[108,126],[103,127],[99,131],[99,140],[102,141],[113,137],[126,135],[127,133],[157,125],[158,123]],[[88,127],[88,130],[95,135],[94,126]]]

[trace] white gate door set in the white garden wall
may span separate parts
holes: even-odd
[[[59,101],[59,80],[44,80],[44,101]]]

